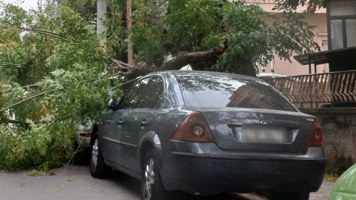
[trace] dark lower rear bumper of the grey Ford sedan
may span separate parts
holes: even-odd
[[[172,152],[162,179],[168,190],[199,193],[317,191],[325,157],[280,157]]]

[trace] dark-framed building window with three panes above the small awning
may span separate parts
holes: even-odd
[[[356,46],[356,0],[328,4],[330,49]]]

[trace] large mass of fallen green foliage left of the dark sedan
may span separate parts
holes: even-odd
[[[46,95],[0,113],[0,169],[59,167],[73,154],[74,123],[83,117],[87,118],[82,123],[95,119],[110,98],[102,93],[112,85],[112,70],[96,25],[66,6],[47,13],[12,4],[1,9],[0,91],[5,92],[0,94],[0,107]],[[98,79],[103,74],[107,76]],[[34,83],[35,88],[21,88]],[[111,94],[121,91],[115,93]]]

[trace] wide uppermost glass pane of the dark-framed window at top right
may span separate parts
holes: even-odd
[[[330,16],[356,15],[356,1],[330,1]]]

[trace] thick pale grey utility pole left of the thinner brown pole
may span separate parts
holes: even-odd
[[[103,25],[103,21],[106,20],[106,2],[105,0],[98,0],[96,4],[96,33],[99,37],[100,45],[103,46],[105,51],[105,42],[106,42],[106,28]]]

